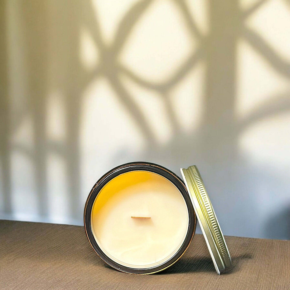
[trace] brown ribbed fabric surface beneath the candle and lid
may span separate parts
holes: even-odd
[[[233,266],[215,272],[202,235],[172,267],[132,275],[107,266],[81,226],[0,221],[0,289],[290,289],[290,241],[226,237]]]

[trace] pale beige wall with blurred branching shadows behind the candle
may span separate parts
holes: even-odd
[[[0,218],[82,224],[112,167],[196,164],[224,234],[290,239],[289,1],[0,13]]]

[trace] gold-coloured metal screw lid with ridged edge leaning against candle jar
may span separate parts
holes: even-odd
[[[218,274],[231,266],[231,257],[200,173],[195,165],[180,169],[207,247]]]

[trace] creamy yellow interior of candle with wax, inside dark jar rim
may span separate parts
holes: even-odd
[[[131,171],[99,192],[91,225],[109,258],[141,269],[167,261],[180,249],[189,218],[184,198],[172,182],[156,173]]]

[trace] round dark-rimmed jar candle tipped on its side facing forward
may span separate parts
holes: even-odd
[[[97,182],[88,197],[85,223],[93,248],[108,264],[129,273],[153,273],[184,253],[196,219],[176,175],[133,163]]]

